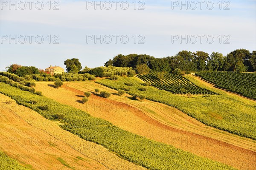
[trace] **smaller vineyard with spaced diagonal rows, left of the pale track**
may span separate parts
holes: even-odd
[[[216,94],[190,82],[188,79],[177,74],[164,74],[163,79],[157,78],[154,74],[140,75],[137,77],[145,82],[151,82],[151,85],[159,90],[170,91],[174,94]]]

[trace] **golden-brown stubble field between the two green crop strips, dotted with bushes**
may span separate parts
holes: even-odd
[[[87,111],[114,125],[153,139],[171,144],[198,156],[220,161],[238,169],[255,169],[255,141],[206,126],[186,114],[157,102],[133,101],[130,95],[117,95],[117,91],[95,82],[69,82],[55,89],[52,82],[37,82],[37,91],[58,102]],[[86,104],[80,101],[84,91],[112,93],[109,99],[92,94]]]

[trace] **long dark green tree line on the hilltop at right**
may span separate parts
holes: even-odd
[[[227,56],[219,52],[208,54],[204,51],[180,51],[175,56],[155,58],[146,54],[118,54],[105,62],[105,66],[141,68],[152,71],[256,71],[256,51],[237,49]]]

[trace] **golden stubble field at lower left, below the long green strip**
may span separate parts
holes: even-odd
[[[32,169],[143,170],[0,94],[0,149]],[[65,164],[65,165],[64,165]]]

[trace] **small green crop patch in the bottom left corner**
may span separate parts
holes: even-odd
[[[7,156],[3,151],[0,150],[0,169],[1,170],[29,170],[26,167],[20,165],[20,163]]]

